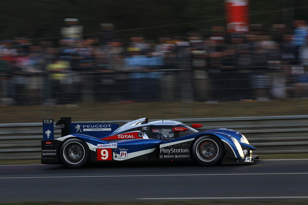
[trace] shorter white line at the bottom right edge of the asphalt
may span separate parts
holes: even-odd
[[[139,200],[190,200],[190,199],[308,199],[308,196],[252,196],[252,197],[182,197],[182,198],[137,198]]]

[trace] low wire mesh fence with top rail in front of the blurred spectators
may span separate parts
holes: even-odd
[[[52,77],[53,78],[52,78]],[[0,104],[240,101],[308,97],[305,66],[0,73]]]

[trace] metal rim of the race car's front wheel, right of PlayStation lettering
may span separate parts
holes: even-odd
[[[217,158],[219,147],[214,140],[204,139],[197,144],[196,153],[200,160],[210,162]]]

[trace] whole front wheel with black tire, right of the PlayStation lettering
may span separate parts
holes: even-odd
[[[192,156],[201,166],[215,166],[221,164],[224,157],[224,146],[216,136],[201,136],[193,144]]]

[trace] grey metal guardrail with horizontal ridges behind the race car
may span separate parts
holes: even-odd
[[[308,152],[308,115],[173,120],[203,124],[204,129],[235,129],[257,148],[256,154]],[[127,121],[111,123],[122,125]],[[40,159],[42,133],[42,123],[0,124],[0,159]],[[55,138],[60,133],[55,130]]]

